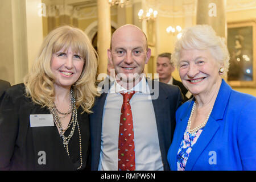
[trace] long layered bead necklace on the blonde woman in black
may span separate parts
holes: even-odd
[[[63,144],[65,149],[67,150],[68,156],[69,156],[69,150],[68,150],[68,143],[69,140],[73,137],[73,134],[75,132],[75,128],[77,125],[77,129],[79,131],[79,152],[80,152],[80,166],[77,168],[81,169],[82,167],[82,144],[81,144],[81,133],[80,133],[80,127],[79,127],[79,122],[77,121],[77,109],[76,109],[76,97],[73,92],[73,89],[71,89],[71,104],[69,105],[69,110],[67,113],[61,113],[59,110],[57,110],[57,107],[55,106],[53,102],[53,107],[49,107],[49,110],[51,114],[53,115],[53,121],[55,122],[56,126],[60,130],[60,137],[63,139]],[[64,115],[63,117],[59,117],[59,114]],[[68,137],[65,137],[64,133],[67,129],[63,129],[61,125],[61,118],[65,118],[68,116],[68,114],[72,113],[71,121],[69,122],[69,125],[67,129],[72,125],[71,132],[69,133]]]

